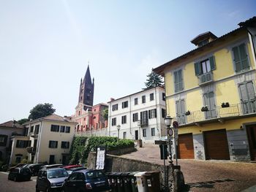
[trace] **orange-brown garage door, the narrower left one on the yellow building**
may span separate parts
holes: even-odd
[[[195,158],[192,134],[178,135],[178,158]]]

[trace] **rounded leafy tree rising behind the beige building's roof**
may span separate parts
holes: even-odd
[[[52,115],[56,110],[53,109],[53,104],[37,104],[30,110],[29,119],[43,118],[48,115]]]

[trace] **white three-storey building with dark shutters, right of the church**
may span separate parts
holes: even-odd
[[[108,135],[154,143],[166,135],[165,113],[165,88],[159,86],[111,99],[108,102]]]

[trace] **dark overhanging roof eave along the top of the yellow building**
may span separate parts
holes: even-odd
[[[229,33],[223,35],[222,37],[219,37],[217,39],[214,39],[211,42],[208,42],[208,44],[203,45],[201,47],[197,47],[195,50],[191,50],[188,53],[185,53],[184,55],[180,55],[178,58],[174,58],[171,61],[168,61],[165,64],[162,64],[161,66],[158,66],[157,68],[153,69],[154,72],[157,74],[163,74],[162,71],[165,69],[166,66],[170,66],[172,64],[177,63],[181,59],[187,58],[188,56],[195,55],[196,53],[200,53],[202,50],[206,49],[207,47],[212,47],[215,45],[217,42],[222,42],[223,39],[230,37],[233,34],[237,34],[240,31],[243,31],[246,29],[246,26],[252,25],[252,23],[255,23],[256,17],[250,18],[249,20],[246,20],[244,22],[239,23],[238,25],[240,26],[239,28],[236,28],[233,31],[230,31]],[[201,34],[202,35],[202,34]]]

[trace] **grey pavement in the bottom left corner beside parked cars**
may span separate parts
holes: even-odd
[[[37,177],[31,177],[30,181],[14,182],[8,180],[7,172],[0,172],[0,191],[1,192],[34,192],[36,191]]]

